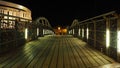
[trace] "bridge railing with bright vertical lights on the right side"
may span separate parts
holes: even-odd
[[[120,61],[120,14],[112,11],[69,28],[69,33]]]

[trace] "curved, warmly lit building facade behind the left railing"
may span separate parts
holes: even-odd
[[[0,21],[2,29],[15,28],[15,21],[32,20],[31,11],[19,4],[0,1]]]

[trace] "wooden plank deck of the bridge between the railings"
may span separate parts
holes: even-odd
[[[0,55],[0,68],[97,68],[115,62],[72,36],[45,36]]]

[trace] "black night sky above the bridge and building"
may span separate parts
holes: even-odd
[[[32,18],[46,17],[52,27],[70,26],[79,21],[120,9],[119,0],[6,0],[26,6]]]

